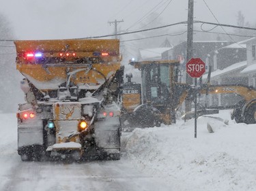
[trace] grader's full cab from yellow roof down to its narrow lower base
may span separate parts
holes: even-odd
[[[157,111],[164,124],[175,122],[175,82],[180,65],[177,60],[150,60],[132,62],[141,71],[141,103]],[[174,116],[173,116],[174,115]]]

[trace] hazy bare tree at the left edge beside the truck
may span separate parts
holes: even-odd
[[[16,71],[16,51],[12,41],[12,29],[8,19],[0,14],[0,112],[15,112],[23,101],[19,88],[21,75]]]

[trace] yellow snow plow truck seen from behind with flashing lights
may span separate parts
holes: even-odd
[[[119,40],[14,41],[26,103],[18,105],[21,160],[120,158]]]

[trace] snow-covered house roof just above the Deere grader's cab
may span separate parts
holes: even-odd
[[[162,58],[162,52],[171,50],[171,48],[148,48],[141,49],[139,53],[141,60],[160,60]]]

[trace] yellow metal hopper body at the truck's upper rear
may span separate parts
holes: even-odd
[[[59,84],[67,80],[67,74],[78,69],[89,68],[86,64],[76,65],[76,59],[96,58],[93,52],[112,52],[113,56],[100,56],[96,63],[92,63],[91,69],[74,73],[70,82],[74,84],[98,85],[109,79],[120,68],[122,56],[119,55],[119,40],[117,39],[63,39],[63,40],[35,40],[14,41],[16,45],[16,68],[25,75],[39,90],[53,90],[57,86],[50,86],[53,82]],[[38,59],[25,58],[25,52],[40,51],[44,58],[50,58],[49,63],[40,63]],[[63,61],[55,60],[59,52],[76,52],[76,56],[70,56]],[[98,62],[98,63],[97,63]],[[49,82],[49,86],[40,86],[42,82]],[[57,85],[59,85],[57,84]],[[37,86],[38,85],[38,86]]]

